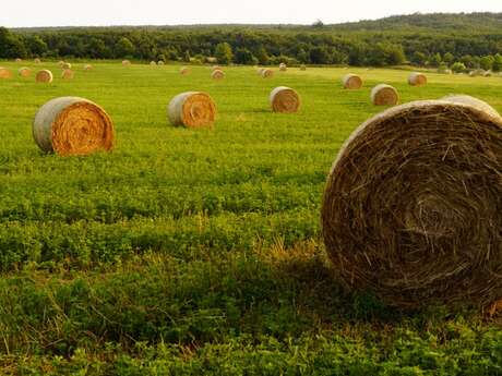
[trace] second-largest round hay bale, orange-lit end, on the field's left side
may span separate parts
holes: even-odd
[[[113,147],[113,123],[98,105],[77,97],[61,97],[40,107],[33,137],[41,150],[60,156],[87,155]]]

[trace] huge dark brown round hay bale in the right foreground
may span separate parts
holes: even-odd
[[[403,307],[501,298],[501,171],[502,118],[479,100],[415,101],[368,120],[324,191],[337,277]]]

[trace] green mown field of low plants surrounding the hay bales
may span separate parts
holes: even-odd
[[[20,64],[1,62],[17,69]],[[0,81],[1,375],[502,375],[502,330],[478,312],[399,312],[332,278],[320,235],[324,182],[351,131],[402,101],[468,94],[502,111],[502,77],[403,70],[75,66],[50,85]],[[29,64],[27,65],[29,66]],[[35,68],[35,65],[32,65]],[[297,114],[268,93],[295,88]],[[166,106],[207,92],[214,130],[167,123]],[[110,154],[61,158],[33,141],[36,110],[59,96],[113,119]]]

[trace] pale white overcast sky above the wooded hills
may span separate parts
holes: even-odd
[[[4,0],[0,25],[325,24],[415,12],[502,12],[502,0]]]

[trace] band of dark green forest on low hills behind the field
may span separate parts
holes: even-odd
[[[410,63],[502,70],[502,13],[411,14],[325,25],[0,27],[0,58],[220,64]]]

